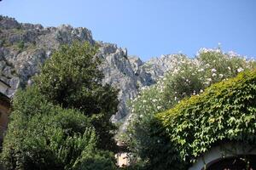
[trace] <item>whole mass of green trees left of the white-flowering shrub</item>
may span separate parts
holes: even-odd
[[[32,87],[15,94],[1,153],[6,169],[116,169],[109,118],[117,91],[102,86],[95,53],[87,42],[61,47]]]

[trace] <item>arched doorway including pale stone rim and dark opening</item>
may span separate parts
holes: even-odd
[[[249,161],[249,164],[247,161]],[[250,168],[247,167],[249,165]],[[256,170],[256,145],[218,144],[198,157],[189,170]]]

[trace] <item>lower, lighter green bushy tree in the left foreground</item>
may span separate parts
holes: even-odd
[[[5,169],[91,169],[98,162],[115,169],[113,154],[97,148],[96,130],[80,111],[49,103],[35,87],[18,91],[13,104],[1,153]]]

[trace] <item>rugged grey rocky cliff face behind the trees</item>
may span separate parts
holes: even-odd
[[[0,75],[11,86],[7,95],[13,96],[17,88],[31,83],[31,77],[40,71],[45,59],[61,44],[73,41],[100,44],[97,55],[102,58],[103,83],[120,89],[119,111],[113,116],[113,122],[122,120],[129,113],[126,100],[133,98],[139,88],[156,82],[172,68],[172,59],[178,56],[164,55],[144,63],[115,44],[96,42],[91,31],[84,27],[43,27],[0,16]]]

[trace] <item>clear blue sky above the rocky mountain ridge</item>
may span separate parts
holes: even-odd
[[[84,26],[143,60],[199,48],[256,57],[256,0],[2,0],[0,14],[43,26]]]

